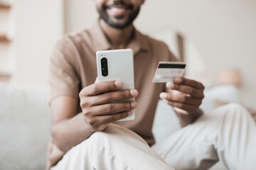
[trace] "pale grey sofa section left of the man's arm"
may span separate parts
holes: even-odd
[[[0,84],[0,169],[45,169],[50,139],[46,88]]]

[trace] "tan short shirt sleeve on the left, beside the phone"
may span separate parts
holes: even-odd
[[[69,38],[59,40],[50,55],[48,101],[58,96],[78,98],[80,79],[75,64],[77,49]]]

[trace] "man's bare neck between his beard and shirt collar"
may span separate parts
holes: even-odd
[[[117,29],[109,26],[105,21],[100,19],[100,26],[114,49],[126,48],[134,33],[134,26],[132,24],[126,28]]]

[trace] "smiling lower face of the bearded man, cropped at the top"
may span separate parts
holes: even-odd
[[[109,26],[125,28],[138,16],[144,0],[95,0],[97,11]]]

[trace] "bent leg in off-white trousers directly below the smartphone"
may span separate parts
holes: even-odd
[[[172,169],[136,133],[110,124],[70,149],[51,170]]]

